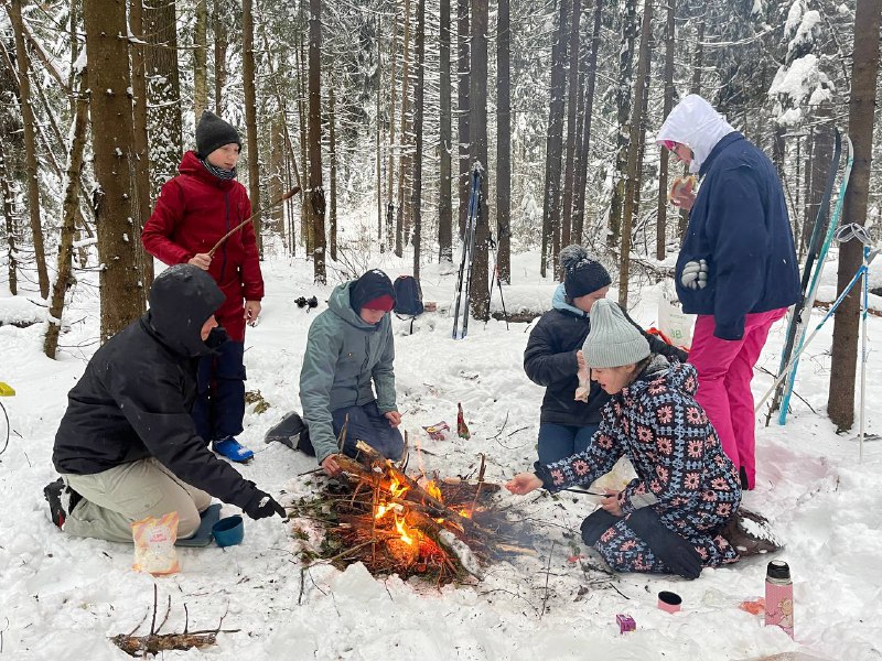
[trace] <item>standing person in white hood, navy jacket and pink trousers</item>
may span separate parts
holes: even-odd
[[[684,311],[698,315],[689,354],[696,399],[752,489],[753,367],[768,328],[800,295],[784,191],[768,158],[698,95],[670,111],[656,142],[701,182],[697,193],[684,188],[673,199],[690,210],[677,294]]]

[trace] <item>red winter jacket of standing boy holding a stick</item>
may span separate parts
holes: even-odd
[[[162,186],[141,241],[148,252],[166,264],[185,263],[212,247],[251,215],[245,186],[213,175],[196,158],[184,154],[180,174]],[[208,273],[226,296],[215,312],[230,339],[245,340],[244,301],[263,297],[257,237],[250,223],[230,236],[214,253]]]

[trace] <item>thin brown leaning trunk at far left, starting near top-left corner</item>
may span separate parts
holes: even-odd
[[[43,247],[43,227],[40,223],[40,184],[36,165],[36,131],[34,112],[31,109],[31,59],[24,48],[24,26],[21,18],[22,0],[10,0],[7,12],[15,33],[15,59],[19,65],[19,95],[22,124],[24,126],[24,170],[28,177],[28,210],[31,218],[31,234],[34,242],[36,278],[40,283],[40,296],[49,296],[49,271]]]

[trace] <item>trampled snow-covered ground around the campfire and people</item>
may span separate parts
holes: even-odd
[[[506,288],[508,308],[547,307],[555,284],[539,279],[536,254],[518,256],[516,284]],[[364,266],[368,266],[366,262]],[[385,257],[369,262],[395,275],[402,262]],[[257,452],[241,468],[261,488],[291,498],[309,494],[313,459],[278,444],[267,446],[265,432],[286,412],[299,409],[298,377],[306,329],[318,311],[298,308],[294,299],[316,295],[324,308],[331,290],[312,284],[311,264],[301,259],[265,263],[267,299],[257,328],[248,330],[248,389],[259,389],[270,409],[249,410],[243,441]],[[828,268],[828,273],[835,266]],[[874,273],[875,274],[875,273]],[[424,300],[447,308],[454,273],[426,268]],[[833,281],[828,279],[828,282]],[[524,284],[535,283],[535,284]],[[498,306],[498,291],[494,307]],[[615,294],[612,294],[615,295]],[[655,321],[658,288],[632,292],[635,318]],[[33,297],[33,296],[32,296]],[[821,296],[824,297],[824,296]],[[0,319],[26,319],[28,296],[0,292]],[[878,300],[874,300],[874,305]],[[97,347],[97,289],[82,282],[65,312],[71,329],[63,335],[61,359],[41,353],[42,328],[0,326],[0,380],[14,398],[3,400],[12,437],[0,456],[0,657],[10,659],[126,659],[108,637],[138,628],[146,633],[153,587],[171,613],[163,632],[212,629],[222,616],[217,647],[205,652],[166,652],[165,659],[347,659],[395,658],[531,660],[542,659],[759,659],[802,651],[822,659],[882,659],[882,442],[868,442],[863,463],[858,444],[838,436],[824,413],[829,380],[832,323],[825,326],[803,360],[794,414],[784,427],[759,425],[757,488],[745,505],[766,514],[786,549],[778,555],[792,567],[795,585],[796,640],[777,628],[764,628],[756,616],[738,608],[763,594],[765,559],[722,570],[706,570],[695,582],[627,574],[611,582],[585,571],[573,555],[587,550],[568,535],[593,509],[591,497],[559,498],[504,492],[524,516],[544,522],[536,557],[520,557],[487,568],[480,584],[437,590],[392,576],[377,579],[362,565],[338,572],[310,568],[301,582],[300,542],[280,520],[246,520],[239,546],[180,550],[182,572],[153,578],[131,571],[132,549],[68,538],[45,516],[43,486],[54,478],[52,442],[66,393]],[[820,313],[813,319],[817,323]],[[399,407],[411,442],[419,438],[427,470],[465,475],[480,453],[487,457],[487,479],[503,481],[535,458],[542,391],[521,368],[529,327],[503,322],[472,322],[469,337],[450,337],[451,319],[427,313],[408,335],[396,324],[396,375]],[[870,318],[871,340],[882,321]],[[782,327],[775,327],[760,367],[776,369]],[[868,370],[868,429],[882,432],[876,409],[882,394],[878,354]],[[147,376],[146,376],[147,378]],[[760,373],[761,394],[771,377]],[[429,441],[422,425],[455,422],[462,402],[472,431],[470,441]],[[4,436],[0,419],[0,447]],[[857,427],[856,427],[857,429]],[[416,462],[411,460],[411,468]],[[313,480],[313,481],[310,481]],[[284,501],[284,500],[283,500]],[[225,513],[236,508],[224,507]],[[656,608],[656,594],[673,589],[682,611]],[[164,606],[160,607],[161,619]],[[637,624],[621,636],[616,614]]]

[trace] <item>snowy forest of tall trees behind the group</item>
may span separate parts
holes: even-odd
[[[138,240],[211,109],[243,134],[261,256],[305,256],[316,283],[377,251],[455,270],[470,173],[482,176],[471,311],[539,248],[540,274],[582,242],[620,302],[671,275],[688,217],[654,136],[688,93],[772,158],[800,257],[833,128],[854,143],[843,223],[880,238],[882,1],[3,0],[0,279],[49,307],[99,272],[100,337],[142,313]],[[873,156],[876,156],[873,159]],[[292,189],[298,193],[287,197]],[[342,218],[358,218],[342,224]],[[345,230],[342,226],[345,225]],[[840,289],[860,266],[839,254]],[[83,284],[83,286],[88,286]],[[828,412],[853,422],[857,295],[836,317]]]

